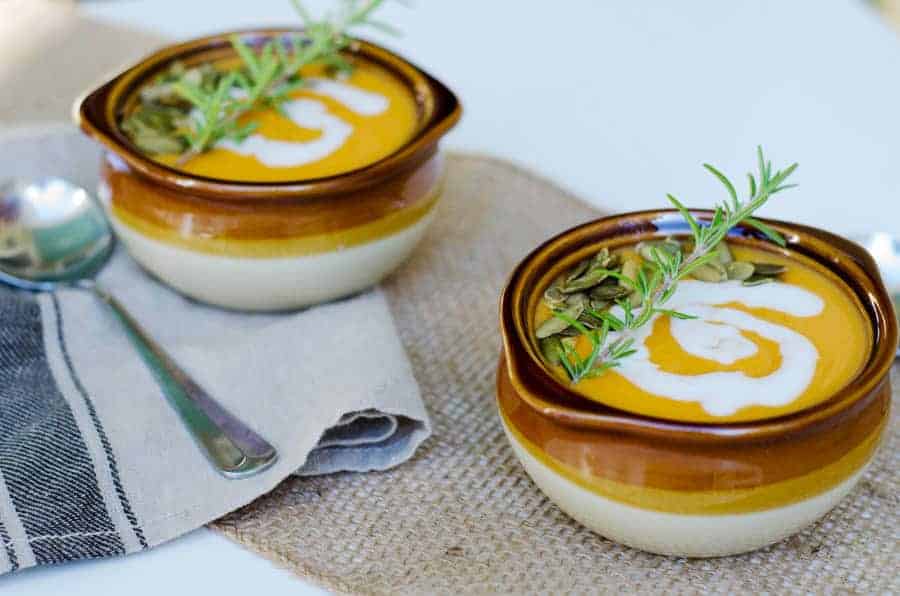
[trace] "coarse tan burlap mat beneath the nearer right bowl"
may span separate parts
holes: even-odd
[[[639,552],[549,502],[497,418],[497,301],[528,251],[597,212],[498,160],[453,155],[448,168],[434,226],[385,284],[433,438],[389,472],[290,479],[218,530],[351,593],[900,591],[896,415],[849,498],[803,533],[747,555]]]

